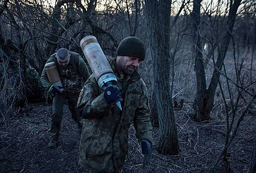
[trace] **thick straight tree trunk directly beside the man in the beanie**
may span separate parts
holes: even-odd
[[[158,152],[179,153],[175,117],[170,93],[170,9],[171,0],[146,0],[148,34],[153,60],[154,93],[159,119]]]

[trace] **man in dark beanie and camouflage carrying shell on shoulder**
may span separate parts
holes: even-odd
[[[117,58],[109,61],[117,86],[102,91],[91,75],[83,87],[85,92],[76,107],[84,119],[79,164],[92,173],[122,170],[132,122],[142,146],[143,165],[150,164],[153,136],[149,98],[146,85],[136,71],[144,59],[144,43],[136,37],[127,37],[117,48]],[[115,105],[116,101],[121,101],[122,111]]]

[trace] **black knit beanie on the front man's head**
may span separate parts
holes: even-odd
[[[144,43],[137,37],[126,37],[117,47],[118,56],[134,56],[143,61],[145,54]]]

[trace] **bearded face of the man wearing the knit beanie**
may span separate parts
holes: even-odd
[[[117,56],[116,63],[119,70],[127,75],[132,75],[140,66],[141,59],[134,56]]]

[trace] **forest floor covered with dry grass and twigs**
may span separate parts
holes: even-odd
[[[0,173],[86,173],[78,165],[79,132],[65,104],[61,123],[60,143],[56,149],[47,147],[51,124],[51,104],[34,103],[33,109],[0,126]],[[192,120],[191,104],[184,103],[175,111],[180,153],[176,156],[157,153],[158,128],[154,128],[152,163],[142,169],[140,145],[135,130],[129,130],[129,153],[124,173],[207,173],[224,148],[226,121],[220,106],[215,106],[211,121]],[[235,118],[236,125],[239,117]],[[234,173],[249,172],[253,150],[255,108],[245,116],[237,136],[228,150]],[[211,172],[221,172],[221,162]]]

